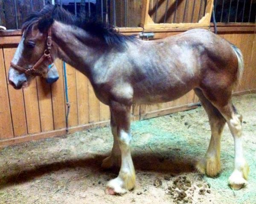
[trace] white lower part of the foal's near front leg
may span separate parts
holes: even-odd
[[[121,150],[122,164],[118,177],[107,184],[106,193],[111,195],[124,194],[135,186],[135,170],[130,150],[131,134],[120,130],[118,143]]]

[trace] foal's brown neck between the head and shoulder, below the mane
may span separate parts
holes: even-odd
[[[90,77],[92,67],[102,54],[99,46],[95,46],[96,40],[90,39],[81,28],[59,22],[53,24],[52,35],[58,47],[58,58]]]

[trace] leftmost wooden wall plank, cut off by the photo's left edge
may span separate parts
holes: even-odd
[[[12,138],[12,116],[9,104],[3,46],[0,46],[0,139]]]

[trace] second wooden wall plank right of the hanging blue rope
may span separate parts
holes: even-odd
[[[81,72],[76,70],[76,97],[78,124],[89,122],[89,100],[88,100],[88,79]]]

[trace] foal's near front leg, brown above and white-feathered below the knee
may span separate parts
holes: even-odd
[[[108,182],[106,193],[110,195],[124,194],[135,186],[135,170],[131,159],[131,106],[111,102],[111,113],[116,124],[117,141],[121,151],[121,168],[119,175]]]

